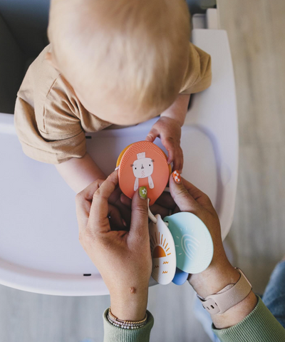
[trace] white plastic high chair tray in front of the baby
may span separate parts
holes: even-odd
[[[183,177],[212,199],[224,238],[232,224],[238,165],[232,60],[225,31],[195,29],[193,42],[212,55],[213,81],[193,96],[182,129]],[[40,294],[108,294],[78,242],[75,194],[53,165],[24,155],[13,120],[0,114],[0,284]],[[155,120],[88,134],[88,152],[109,174],[121,150],[145,140]]]

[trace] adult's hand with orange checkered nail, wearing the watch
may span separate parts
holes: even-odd
[[[222,245],[221,228],[217,212],[207,195],[187,180],[173,172],[170,177],[170,193],[182,212],[192,212],[206,224],[214,244],[214,256],[209,267],[199,274],[190,274],[188,281],[197,294],[203,298],[217,294],[229,284],[236,284],[239,272],[229,263]],[[257,297],[251,291],[239,304],[224,314],[212,315],[216,328],[234,326],[246,317],[257,304]]]

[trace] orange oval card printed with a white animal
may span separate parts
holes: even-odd
[[[132,198],[139,187],[147,187],[147,197],[154,204],[162,194],[170,176],[167,157],[160,147],[149,141],[139,141],[127,147],[119,156],[119,185]]]

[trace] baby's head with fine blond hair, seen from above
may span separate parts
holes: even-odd
[[[83,106],[110,123],[160,115],[185,75],[185,0],[52,0],[51,60]]]

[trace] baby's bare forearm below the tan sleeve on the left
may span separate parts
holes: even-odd
[[[71,158],[67,162],[56,165],[56,169],[66,183],[76,193],[81,192],[98,178],[105,180],[106,176],[95,164],[88,153],[82,158]]]

